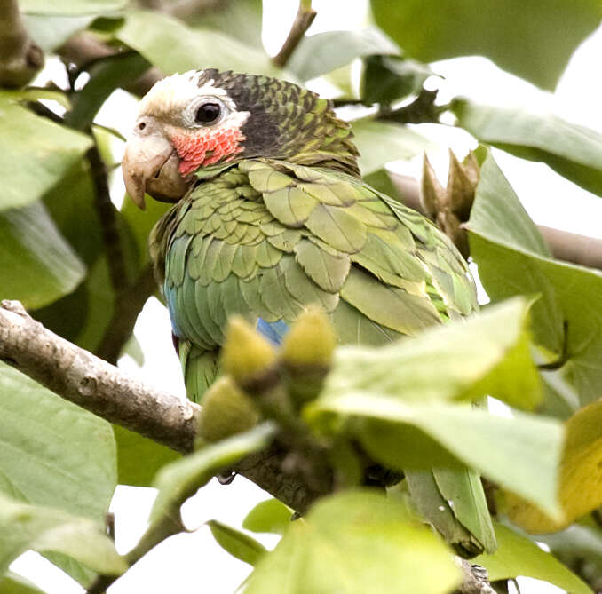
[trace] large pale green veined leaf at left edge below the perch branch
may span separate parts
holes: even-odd
[[[0,491],[101,521],[117,482],[111,426],[0,363]]]

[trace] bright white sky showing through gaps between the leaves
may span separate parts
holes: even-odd
[[[264,4],[265,31],[270,32],[269,36],[265,36],[265,46],[273,54],[288,32],[289,23],[297,11],[297,0],[265,0]],[[367,14],[364,0],[345,3],[345,11],[340,11],[339,3],[329,0],[314,0],[313,5],[318,12],[311,29],[313,33],[332,28],[356,28],[365,22]],[[576,51],[553,95],[504,73],[487,59],[446,60],[433,65],[433,70],[446,77],[440,84],[442,100],[456,94],[487,103],[509,104],[520,100],[532,108],[549,109],[568,120],[602,131],[599,116],[599,106],[602,105],[602,78],[598,75],[600,55],[602,30],[590,36]],[[99,122],[115,126],[127,136],[135,109],[133,99],[123,92],[115,93],[99,115]],[[416,130],[440,144],[440,151],[430,152],[429,158],[441,179],[447,177],[448,147],[462,156],[476,146],[466,132],[452,127],[423,124]],[[602,237],[599,224],[602,201],[598,197],[560,178],[545,165],[523,162],[499,151],[495,157],[535,222]],[[417,177],[420,159],[400,163],[395,169]],[[121,175],[117,173],[112,186],[115,195],[123,194],[119,178]],[[141,374],[151,384],[183,396],[179,363],[171,346],[170,323],[165,309],[156,299],[148,301],[136,324],[135,334],[145,354],[145,364],[140,369],[132,360],[123,358],[120,365]],[[241,477],[227,487],[213,480],[186,503],[186,526],[200,527],[207,519],[215,518],[240,527],[247,511],[266,498],[267,494]],[[153,489],[118,487],[111,510],[115,512],[116,545],[120,552],[129,550],[144,531],[153,499]],[[272,536],[261,540],[268,547],[275,543]],[[83,593],[78,584],[36,553],[21,556],[12,564],[12,570],[26,575],[50,594]],[[116,582],[109,592],[196,594],[204,591],[226,594],[234,592],[249,571],[249,566],[231,558],[213,542],[207,527],[201,527],[193,534],[178,535],[162,543]],[[521,580],[521,588],[524,594],[562,591],[535,580]]]

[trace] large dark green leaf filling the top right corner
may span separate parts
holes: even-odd
[[[602,18],[597,0],[491,0],[487,10],[472,0],[453,5],[447,0],[371,0],[370,5],[378,26],[416,59],[486,56],[550,90]]]

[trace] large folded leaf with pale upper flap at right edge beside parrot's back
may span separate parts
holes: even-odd
[[[553,260],[502,171],[483,163],[469,221],[471,255],[493,300],[538,295],[532,308],[535,343],[570,378],[582,404],[602,384],[602,274]]]

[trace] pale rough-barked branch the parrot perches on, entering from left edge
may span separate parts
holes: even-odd
[[[183,454],[193,450],[198,405],[156,390],[45,329],[18,301],[0,304],[0,360],[111,423]],[[327,491],[307,486],[301,472],[283,471],[284,457],[273,446],[232,470],[304,512]]]

